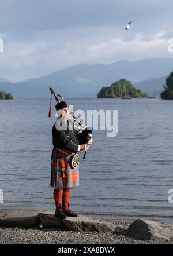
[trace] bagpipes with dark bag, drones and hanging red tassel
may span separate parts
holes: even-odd
[[[58,97],[61,97],[63,102],[65,102],[65,100],[60,94],[57,94],[58,95],[58,97],[57,97],[56,94],[55,94],[55,91],[52,89],[52,87],[50,87],[49,90],[51,91],[51,100],[50,100],[50,109],[49,109],[48,117],[51,117],[51,114],[52,114],[52,108],[51,108],[52,94],[54,95],[55,100],[57,101],[57,103],[61,102],[60,100],[58,100]],[[83,121],[78,120],[74,115],[72,115],[72,119],[73,119],[73,127],[77,131],[79,144],[80,145],[88,144],[89,139],[92,138],[93,128],[85,126],[83,124]],[[83,159],[85,159],[85,156],[86,156],[86,151],[84,153]]]

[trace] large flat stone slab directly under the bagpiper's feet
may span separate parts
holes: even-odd
[[[54,212],[47,211],[40,214],[40,221],[44,228],[56,227],[70,231],[96,231],[96,232],[112,232],[115,225],[108,221],[99,220],[97,218],[88,218],[82,215],[78,217],[67,217],[59,219],[54,217]]]

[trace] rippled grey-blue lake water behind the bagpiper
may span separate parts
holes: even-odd
[[[69,99],[75,109],[118,110],[118,134],[94,131],[70,208],[109,220],[173,223],[173,101]],[[49,100],[0,101],[0,209],[54,210],[50,187]],[[55,105],[55,104],[54,104]]]

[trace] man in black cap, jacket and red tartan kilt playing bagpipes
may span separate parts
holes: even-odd
[[[51,158],[51,186],[54,187],[55,217],[77,217],[78,214],[69,209],[71,188],[79,186],[79,169],[70,167],[70,158],[78,151],[88,151],[88,145],[79,145],[77,131],[70,122],[69,108],[65,101],[55,106],[58,120],[52,127],[54,148]]]

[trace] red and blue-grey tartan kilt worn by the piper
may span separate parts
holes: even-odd
[[[70,167],[71,155],[67,155],[70,151],[66,149],[61,149],[61,151],[63,152],[56,151],[56,149],[52,151],[50,185],[54,188],[79,186],[79,167],[72,169]],[[62,167],[65,167],[65,172],[62,171]]]

